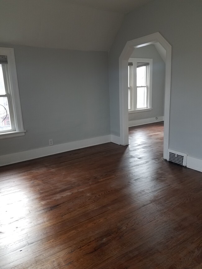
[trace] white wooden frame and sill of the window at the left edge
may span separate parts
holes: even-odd
[[[26,131],[24,130],[22,121],[14,49],[0,47],[0,55],[7,56],[8,63],[2,69],[4,69],[4,76],[6,74],[6,78],[4,78],[5,87],[7,87],[6,96],[8,97],[8,101],[10,100],[9,110],[11,111],[11,117],[13,117],[11,119],[13,123],[11,126],[12,129],[6,132],[0,132],[0,139],[23,136]]]

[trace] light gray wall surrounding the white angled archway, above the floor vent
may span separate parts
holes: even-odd
[[[172,45],[169,147],[202,159],[201,14],[201,0],[154,0],[126,15],[109,53],[112,134],[120,134],[119,56],[128,40],[159,32]]]

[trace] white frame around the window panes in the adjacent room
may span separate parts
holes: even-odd
[[[147,58],[129,58],[128,62],[133,63],[132,71],[132,109],[128,113],[137,113],[152,110],[152,65],[153,59]],[[147,85],[147,106],[146,108],[137,109],[137,63],[149,63],[148,85]]]

